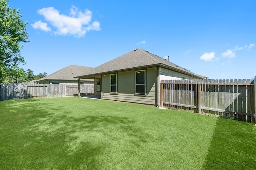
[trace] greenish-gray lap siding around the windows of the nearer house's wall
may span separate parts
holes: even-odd
[[[156,70],[146,69],[146,96],[135,95],[135,70],[117,73],[117,94],[110,94],[110,74],[102,75],[102,99],[156,105]]]

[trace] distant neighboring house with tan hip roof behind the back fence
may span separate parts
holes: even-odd
[[[77,84],[78,79],[74,76],[81,75],[91,70],[92,67],[70,65],[58,70],[48,76],[36,80],[35,83],[40,84]],[[80,84],[93,84],[94,80],[81,79]]]

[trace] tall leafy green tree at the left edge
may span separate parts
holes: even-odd
[[[10,8],[8,0],[0,0],[0,82],[7,77],[8,69],[25,64],[20,54],[20,43],[28,41],[26,24],[21,20],[19,9]]]

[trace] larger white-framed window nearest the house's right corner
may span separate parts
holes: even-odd
[[[135,93],[146,94],[146,70],[135,72]]]

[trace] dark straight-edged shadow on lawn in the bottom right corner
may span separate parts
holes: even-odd
[[[203,169],[254,170],[255,145],[256,128],[252,124],[220,118]]]

